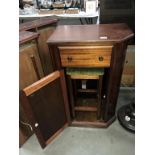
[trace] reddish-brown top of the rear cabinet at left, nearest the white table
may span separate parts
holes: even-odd
[[[49,19],[49,18],[38,19],[38,20],[20,24],[19,31],[30,30],[44,25],[54,24],[57,22],[58,22],[58,19]]]

